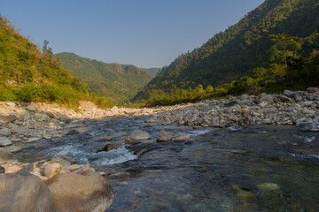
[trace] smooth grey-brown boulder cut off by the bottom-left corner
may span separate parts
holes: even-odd
[[[43,181],[33,175],[0,174],[0,211],[55,212],[52,194]]]

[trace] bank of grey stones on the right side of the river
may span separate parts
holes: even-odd
[[[319,92],[285,91],[283,95],[241,95],[209,100],[175,110],[154,113],[147,120],[162,125],[230,127],[237,125],[297,125],[319,131]]]

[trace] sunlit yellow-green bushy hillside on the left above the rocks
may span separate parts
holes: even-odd
[[[52,56],[48,42],[43,52],[0,16],[0,101],[59,102],[76,106],[88,86],[74,78]],[[111,106],[107,100],[105,106]]]

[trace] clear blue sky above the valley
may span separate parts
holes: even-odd
[[[0,0],[35,44],[105,63],[162,67],[234,25],[263,0]]]

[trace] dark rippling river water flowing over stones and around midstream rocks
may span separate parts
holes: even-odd
[[[318,133],[287,125],[145,127],[144,118],[88,120],[81,133],[24,144],[17,156],[68,155],[100,172],[127,173],[108,179],[115,199],[107,211],[319,211]],[[124,143],[137,129],[152,140],[96,153],[106,142],[98,138]],[[191,140],[159,143],[162,129]]]

